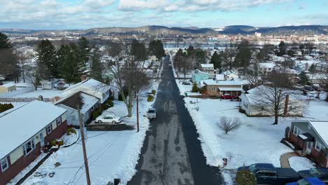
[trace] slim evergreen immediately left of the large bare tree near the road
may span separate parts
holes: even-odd
[[[97,81],[102,81],[102,62],[100,60],[100,50],[95,47],[91,50],[90,55],[90,77]]]

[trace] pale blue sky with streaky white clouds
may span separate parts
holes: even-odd
[[[0,0],[0,29],[328,25],[328,0]]]

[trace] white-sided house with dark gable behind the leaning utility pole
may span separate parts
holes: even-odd
[[[100,99],[87,93],[78,92],[66,97],[55,104],[67,110],[67,121],[69,125],[78,126],[78,108],[82,115],[82,123],[87,123],[92,117],[95,109],[100,107]]]

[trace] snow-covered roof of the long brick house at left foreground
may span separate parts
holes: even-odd
[[[0,159],[65,112],[51,103],[35,100],[0,116]]]

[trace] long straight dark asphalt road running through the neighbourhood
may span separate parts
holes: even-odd
[[[157,118],[151,121],[129,185],[224,184],[217,167],[206,165],[196,127],[184,106],[168,60],[158,87]]]

